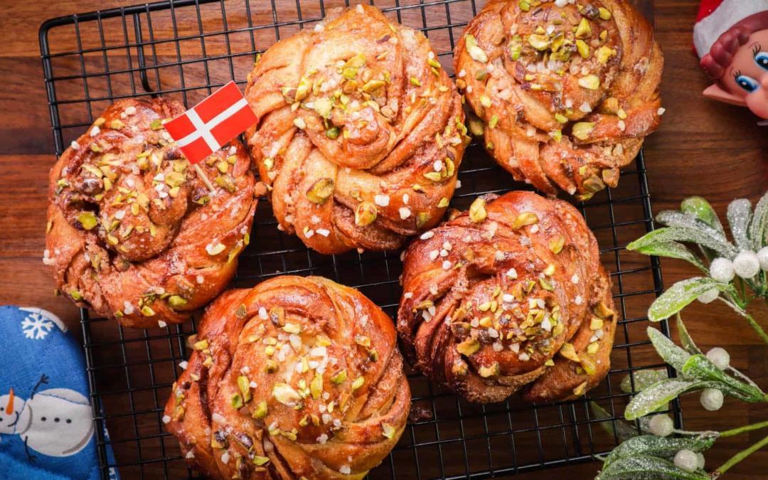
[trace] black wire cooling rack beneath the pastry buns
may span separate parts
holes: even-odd
[[[474,0],[371,3],[423,31],[449,73],[454,42],[482,7]],[[227,81],[242,84],[257,53],[342,5],[345,0],[181,0],[45,22],[40,45],[56,154],[115,99],[163,94],[191,106]],[[525,188],[475,144],[465,154],[459,180],[452,201],[457,208],[468,207],[478,194]],[[583,462],[617,445],[611,428],[630,396],[621,391],[621,379],[637,369],[663,367],[645,335],[647,306],[661,292],[659,262],[624,250],[653,229],[642,154],[634,169],[621,174],[620,187],[578,207],[598,237],[622,314],[607,379],[574,402],[531,406],[512,398],[478,406],[410,374],[409,426],[371,478],[486,478]],[[355,286],[395,316],[401,293],[398,251],[320,255],[276,229],[267,201],[259,204],[251,237],[256,240],[242,253],[233,286],[253,286],[283,273],[326,276]],[[102,476],[114,467],[123,478],[191,476],[161,417],[179,363],[187,359],[185,339],[194,333],[194,321],[123,329],[82,310],[81,324]],[[666,324],[662,329],[668,334]],[[607,419],[604,412],[595,414],[591,402]],[[672,412],[680,425],[676,403]]]

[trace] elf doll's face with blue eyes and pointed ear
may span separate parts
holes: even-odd
[[[704,95],[768,118],[768,29],[750,35],[733,55],[723,78],[707,88]]]

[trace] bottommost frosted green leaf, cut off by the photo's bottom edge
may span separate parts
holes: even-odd
[[[612,462],[595,477],[595,480],[710,480],[707,472],[688,472],[676,467],[664,458],[650,455],[622,457]]]

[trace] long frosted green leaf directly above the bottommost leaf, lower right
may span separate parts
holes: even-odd
[[[712,447],[717,434],[697,435],[693,437],[657,437],[656,435],[637,435],[617,446],[605,458],[605,466],[611,465],[619,458],[635,455],[650,455],[653,457],[672,459],[680,450],[691,452],[706,452]]]

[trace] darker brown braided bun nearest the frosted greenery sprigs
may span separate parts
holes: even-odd
[[[424,233],[404,260],[406,356],[472,402],[573,399],[610,366],[616,315],[571,204],[516,191]],[[559,355],[558,355],[559,353]]]

